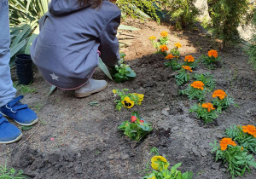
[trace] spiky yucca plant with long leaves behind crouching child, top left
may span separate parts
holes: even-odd
[[[34,38],[39,33],[39,19],[48,11],[49,0],[9,0],[9,22],[11,35],[11,61],[15,54],[29,54]]]

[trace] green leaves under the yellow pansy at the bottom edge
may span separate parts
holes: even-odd
[[[192,171],[186,171],[185,173],[182,173],[180,170],[177,170],[177,168],[182,165],[182,163],[178,163],[174,166],[172,166],[171,170],[163,169],[160,171],[153,170],[151,174],[148,176],[144,176],[143,179],[192,179],[193,172]]]

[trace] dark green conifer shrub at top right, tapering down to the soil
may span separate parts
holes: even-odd
[[[213,35],[223,40],[224,45],[236,43],[239,39],[237,27],[247,14],[249,0],[207,0],[207,4]]]

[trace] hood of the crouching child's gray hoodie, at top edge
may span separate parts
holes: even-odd
[[[83,7],[80,6],[78,0],[51,0],[49,2],[50,14],[68,14],[79,9],[89,7],[90,4],[86,4]]]

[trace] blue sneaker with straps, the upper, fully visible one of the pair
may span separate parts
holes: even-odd
[[[3,116],[13,118],[20,125],[36,124],[38,122],[37,114],[28,108],[26,104],[20,102],[22,98],[23,95],[20,95],[7,105],[0,107],[0,113]]]

